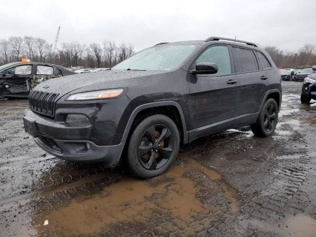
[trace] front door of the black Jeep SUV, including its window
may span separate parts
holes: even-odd
[[[233,126],[238,97],[236,90],[238,82],[227,83],[230,79],[235,79],[230,75],[232,69],[228,46],[209,47],[198,57],[196,63],[198,62],[216,63],[218,73],[213,75],[189,74],[188,76],[190,140],[214,132],[216,129],[221,130]]]

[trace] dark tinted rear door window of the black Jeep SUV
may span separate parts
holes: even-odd
[[[232,47],[236,73],[259,70],[256,55],[251,49]]]

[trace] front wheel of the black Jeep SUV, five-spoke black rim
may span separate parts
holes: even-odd
[[[141,178],[153,178],[170,168],[176,159],[180,134],[173,120],[153,115],[142,120],[128,143],[127,164],[131,173]]]

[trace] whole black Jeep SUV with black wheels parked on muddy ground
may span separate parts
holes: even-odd
[[[281,81],[254,43],[210,37],[159,43],[110,71],[44,81],[29,103],[25,130],[46,152],[108,166],[122,157],[150,178],[172,165],[180,143],[244,125],[270,136]]]

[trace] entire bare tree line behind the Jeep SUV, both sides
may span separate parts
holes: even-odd
[[[134,45],[106,40],[101,44],[93,42],[89,45],[79,41],[63,42],[56,50],[54,48],[52,44],[41,38],[11,36],[0,40],[0,64],[27,57],[31,61],[53,63],[64,67],[109,68],[134,54]],[[314,44],[307,43],[297,52],[282,50],[276,46],[264,48],[278,68],[316,65]]]

